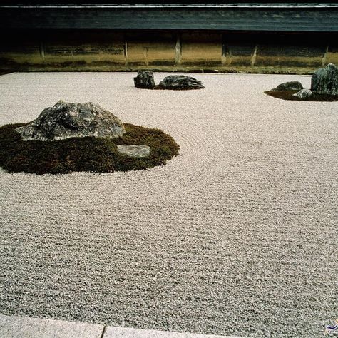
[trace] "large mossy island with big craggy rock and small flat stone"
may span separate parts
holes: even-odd
[[[113,172],[165,165],[178,154],[162,130],[122,123],[96,103],[58,101],[30,123],[0,127],[0,166],[9,172]]]

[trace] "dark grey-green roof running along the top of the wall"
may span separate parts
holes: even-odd
[[[338,7],[0,7],[10,29],[338,31]]]

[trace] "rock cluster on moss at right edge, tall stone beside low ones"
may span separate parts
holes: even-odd
[[[338,101],[338,68],[329,63],[325,68],[315,71],[311,78],[311,88],[303,88],[302,83],[290,81],[265,93],[284,100]]]

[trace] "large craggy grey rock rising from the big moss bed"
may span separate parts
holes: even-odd
[[[66,138],[118,138],[125,133],[123,123],[96,103],[58,101],[43,109],[38,118],[16,128],[23,140],[64,140]]]

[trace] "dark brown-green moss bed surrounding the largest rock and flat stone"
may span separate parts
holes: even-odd
[[[178,154],[179,145],[159,129],[125,123],[126,133],[116,139],[68,138],[54,141],[23,141],[15,128],[0,127],[0,166],[10,173],[64,174],[72,171],[107,173],[141,170],[165,165]],[[118,153],[117,145],[150,146],[150,156],[133,158]]]

